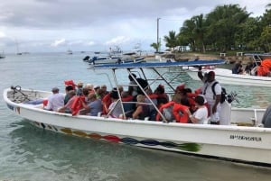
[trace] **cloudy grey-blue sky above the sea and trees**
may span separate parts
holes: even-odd
[[[251,16],[270,0],[2,0],[0,53],[154,50],[150,44],[179,32],[194,15],[239,5]],[[159,21],[157,19],[159,18]],[[159,26],[157,25],[159,23]]]

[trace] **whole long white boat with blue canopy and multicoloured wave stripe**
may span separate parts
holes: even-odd
[[[203,65],[221,63],[223,63],[222,60],[201,61]],[[154,75],[152,78],[146,77],[149,85],[153,85],[157,80],[164,80],[164,84],[172,87],[171,81],[166,78],[168,76],[165,76],[166,73],[170,73],[170,68],[173,68],[175,72],[176,68],[188,65],[199,65],[199,61],[127,63],[98,65],[92,68],[112,71],[116,86],[119,85],[116,74],[122,75],[126,70],[129,75],[133,71],[139,71],[145,76],[145,70],[147,70],[153,71],[157,76],[157,78],[154,78]],[[166,72],[161,73],[159,68],[164,68]],[[136,86],[143,90],[138,82],[136,82]],[[7,107],[15,114],[44,130],[151,149],[183,152],[207,158],[222,158],[266,167],[271,166],[271,129],[259,127],[265,109],[232,108],[228,113],[228,116],[231,115],[229,125],[154,122],[87,115],[72,116],[69,113],[46,111],[42,109],[42,100],[49,95],[51,92],[21,89],[20,86],[16,86],[5,89],[4,100]],[[146,94],[145,96],[148,97]],[[121,100],[119,101],[122,103]],[[157,109],[156,106],[155,109]],[[123,104],[122,110],[124,112]],[[158,109],[157,111],[160,113]]]

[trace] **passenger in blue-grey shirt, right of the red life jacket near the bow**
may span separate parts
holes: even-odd
[[[91,116],[98,116],[98,113],[101,113],[102,111],[101,100],[97,98],[95,93],[90,93],[88,98],[89,104],[85,104],[83,101],[81,102],[85,109],[85,113]]]

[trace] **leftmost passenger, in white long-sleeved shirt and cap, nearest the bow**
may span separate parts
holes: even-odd
[[[53,87],[51,92],[52,95],[48,97],[48,104],[44,106],[43,109],[56,112],[64,105],[64,95],[59,93],[60,89],[58,87]]]

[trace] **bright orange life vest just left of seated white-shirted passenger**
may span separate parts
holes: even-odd
[[[188,123],[189,115],[186,112],[187,109],[189,109],[189,107],[187,107],[185,105],[174,104],[174,106],[173,106],[173,115],[175,117],[176,122]],[[182,112],[182,114],[180,112]]]

